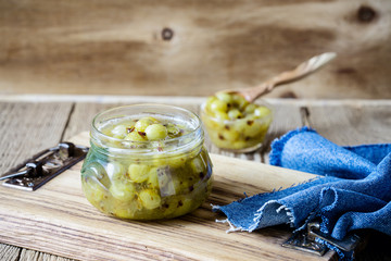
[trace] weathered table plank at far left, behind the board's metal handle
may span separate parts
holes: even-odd
[[[0,102],[0,174],[56,145],[72,103]]]

